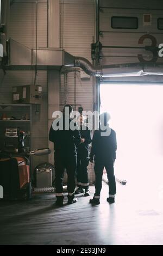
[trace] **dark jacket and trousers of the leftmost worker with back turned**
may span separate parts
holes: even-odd
[[[58,119],[61,120],[61,119]],[[64,118],[63,118],[64,120]],[[68,119],[69,125],[71,119]],[[64,122],[63,122],[64,123]],[[57,197],[62,196],[62,180],[64,171],[67,171],[67,191],[72,196],[76,187],[77,170],[77,148],[76,145],[81,142],[80,132],[77,130],[54,131],[53,127],[49,131],[49,141],[54,142],[54,164],[55,164],[55,193]],[[78,128],[78,126],[77,126]]]

